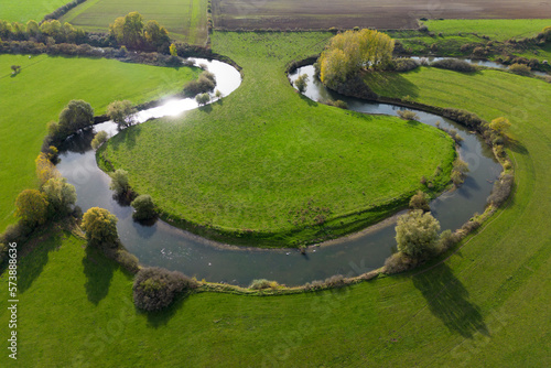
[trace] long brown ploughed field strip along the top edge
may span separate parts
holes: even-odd
[[[376,28],[417,29],[428,19],[551,18],[551,7],[538,0],[452,0],[418,2],[404,0],[213,0],[215,28],[227,30],[327,30]]]

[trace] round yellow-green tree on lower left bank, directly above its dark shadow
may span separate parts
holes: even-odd
[[[118,245],[117,217],[105,208],[91,207],[83,216],[83,230],[89,243]]]

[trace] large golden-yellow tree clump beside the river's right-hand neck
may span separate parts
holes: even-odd
[[[320,77],[324,84],[332,84],[344,82],[363,68],[383,68],[393,50],[395,41],[375,30],[337,34],[320,56]]]

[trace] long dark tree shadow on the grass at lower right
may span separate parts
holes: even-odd
[[[479,307],[468,301],[467,290],[447,264],[413,277],[413,284],[423,294],[432,314],[442,320],[451,332],[467,338],[475,333],[489,335]]]

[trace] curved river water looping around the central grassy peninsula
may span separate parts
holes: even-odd
[[[197,59],[197,63],[206,64],[216,75],[217,89],[224,96],[234,91],[241,82],[239,73],[228,64],[204,59]],[[290,78],[296,78],[299,74],[304,73],[310,75],[305,95],[313,100],[338,98],[346,100],[350,109],[368,113],[396,116],[401,109],[333,94],[313,77],[312,66],[300,68]],[[150,118],[181,113],[196,107],[197,104],[193,99],[172,100],[164,106],[141,111],[138,118],[143,122]],[[501,167],[482,139],[474,133],[441,117],[422,111],[415,112],[423,123],[434,125],[441,121],[443,127],[457,129],[465,139],[460,150],[461,156],[468,162],[471,169],[465,184],[455,192],[444,193],[431,203],[432,212],[441,221],[442,230],[455,229],[474,213],[484,210],[486,197]],[[94,130],[117,133],[112,122],[98,125]],[[120,239],[144,266],[179,270],[199,280],[213,282],[247,285],[253,279],[269,279],[288,285],[298,285],[323,280],[333,274],[350,277],[377,269],[391,255],[396,245],[396,218],[387,219],[360,234],[309,247],[305,256],[295,249],[261,250],[226,247],[161,220],[150,226],[140,225],[132,220],[131,207],[121,206],[112,199],[112,192],[109,190],[110,178],[97,166],[95,152],[89,147],[93,136],[93,132],[88,132],[69,139],[61,153],[61,163],[57,167],[67,181],[75,185],[78,195],[77,205],[84,212],[98,206],[110,210],[119,218],[117,227]]]

